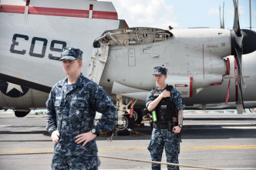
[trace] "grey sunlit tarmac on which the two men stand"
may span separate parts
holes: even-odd
[[[184,119],[183,142],[180,144],[180,164],[218,169],[256,169],[256,115],[247,114],[223,118],[187,117]],[[45,131],[46,116],[29,114],[16,118],[12,113],[0,114],[0,169],[27,170],[51,169],[52,140]],[[150,142],[150,126],[136,126],[138,135],[99,135],[99,155],[134,158],[150,161],[147,145]],[[23,154],[25,155],[4,155]],[[150,169],[150,163],[131,162],[100,157],[103,169]],[[166,162],[163,153],[162,162]],[[167,169],[162,165],[162,169]],[[180,167],[180,169],[200,169]]]

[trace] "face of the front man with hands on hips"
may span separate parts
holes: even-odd
[[[66,75],[76,75],[80,74],[81,67],[83,65],[83,62],[81,60],[62,60],[62,66],[63,71],[66,73]]]

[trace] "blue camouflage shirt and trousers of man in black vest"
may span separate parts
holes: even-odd
[[[157,88],[157,92],[163,92],[165,89],[166,88],[161,90]],[[176,105],[177,111],[179,111],[180,109],[184,109],[180,92],[178,92],[177,89],[172,88],[170,90],[170,100],[173,101]],[[150,102],[153,102],[153,90],[151,90],[147,95],[146,107],[150,104]],[[168,129],[153,128],[150,145],[148,146],[152,161],[161,162],[163,147],[165,148],[165,152],[167,155],[167,162],[179,163],[178,155],[180,153],[180,142],[177,139],[177,135],[175,135],[173,132],[168,131]],[[168,170],[179,169],[178,166],[170,165],[167,165],[167,168]],[[152,169],[160,169],[160,165],[152,164]]]

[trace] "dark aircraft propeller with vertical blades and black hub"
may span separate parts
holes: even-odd
[[[237,72],[238,72],[238,86],[241,95],[241,99],[238,101],[242,102],[244,108],[244,98],[243,90],[246,88],[244,77],[242,73],[242,54],[248,54],[254,52],[256,47],[256,32],[251,30],[241,30],[239,25],[239,15],[238,15],[238,0],[233,0],[234,2],[234,24],[233,30],[231,31],[231,55],[237,62]]]

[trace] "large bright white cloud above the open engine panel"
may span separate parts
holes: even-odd
[[[125,19],[129,27],[178,27],[173,6],[164,0],[112,0],[119,19]]]

